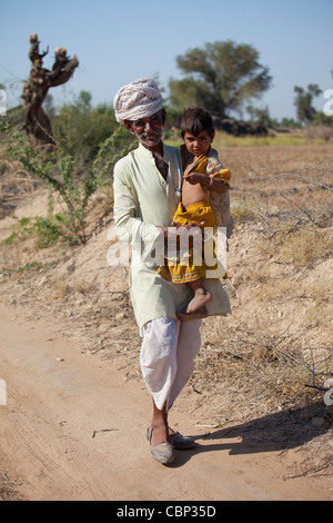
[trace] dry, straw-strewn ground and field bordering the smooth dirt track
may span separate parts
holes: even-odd
[[[323,402],[324,382],[333,377],[333,145],[220,152],[233,175],[236,227],[225,284],[233,315],[204,322],[196,371],[178,408],[202,437],[269,445],[282,465],[286,460],[285,480],[306,477],[320,487],[333,472],[332,407]],[[47,209],[43,187],[14,170],[26,180],[18,198],[8,172],[2,194],[10,188],[12,196],[3,203],[0,241],[17,227],[9,204],[19,218]],[[109,197],[94,199],[85,246],[37,249],[33,238],[2,244],[1,302],[31,326],[57,323],[65,344],[112,364],[125,383],[141,383],[128,268],[105,263],[112,216],[102,223],[99,216]],[[0,499],[14,492],[0,460]]]

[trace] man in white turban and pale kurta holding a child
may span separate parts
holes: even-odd
[[[133,246],[139,243],[147,254],[159,245],[161,235],[168,238],[171,230],[182,187],[181,155],[179,149],[162,141],[165,111],[154,81],[139,79],[122,87],[115,95],[113,108],[117,120],[139,140],[138,149],[114,167],[117,234]],[[138,254],[138,248],[135,251]],[[141,369],[153,399],[148,440],[152,456],[167,465],[173,461],[175,448],[195,445],[192,438],[170,428],[168,414],[193,373],[193,359],[201,344],[201,319],[185,323],[178,319],[176,313],[184,310],[192,299],[190,287],[164,280],[144,257],[133,257],[130,283],[143,338]],[[221,282],[210,279],[205,285],[213,290],[209,314],[230,313]]]

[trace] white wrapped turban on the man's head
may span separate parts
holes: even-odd
[[[157,83],[149,78],[140,78],[117,92],[113,100],[117,121],[149,118],[162,109],[162,97]]]

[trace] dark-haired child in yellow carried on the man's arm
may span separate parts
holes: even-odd
[[[184,111],[180,126],[184,140],[181,146],[184,176],[182,199],[173,217],[173,225],[199,224],[214,229],[226,227],[230,236],[233,228],[229,197],[231,175],[212,149],[215,131],[211,114],[199,106],[191,107]],[[185,264],[181,258],[180,251],[176,258],[168,251],[167,265],[159,267],[158,273],[174,284],[188,283],[193,290],[193,299],[186,312],[178,315],[179,319],[206,317],[205,305],[212,295],[203,285],[208,268],[205,260],[202,259],[201,266],[194,265],[193,250],[188,253]],[[216,265],[210,267],[213,268]]]

